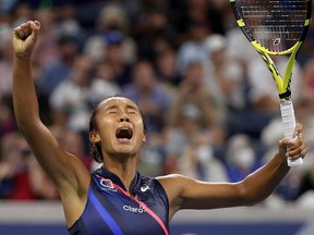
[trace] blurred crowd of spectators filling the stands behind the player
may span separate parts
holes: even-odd
[[[41,23],[33,57],[41,120],[90,171],[98,166],[89,157],[90,110],[114,95],[145,114],[144,174],[237,182],[276,152],[283,136],[276,87],[228,1],[0,2],[0,199],[59,199],[12,109],[11,35],[27,20]],[[273,59],[283,73],[287,58]],[[264,202],[271,207],[309,207],[314,198],[314,26],[293,70],[292,99],[309,156]]]

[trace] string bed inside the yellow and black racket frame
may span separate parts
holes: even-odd
[[[299,41],[306,20],[305,0],[235,2],[247,33],[268,50],[285,51]]]

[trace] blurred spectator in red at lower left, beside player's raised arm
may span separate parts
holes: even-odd
[[[24,137],[16,132],[1,141],[0,197],[11,200],[59,199],[55,185],[36,162]]]

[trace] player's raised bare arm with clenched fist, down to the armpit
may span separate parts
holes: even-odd
[[[64,208],[65,218],[71,214],[67,218],[69,225],[77,219],[72,213],[75,207],[82,208],[86,200],[90,175],[76,157],[58,145],[40,121],[31,63],[39,28],[39,22],[28,21],[13,30],[13,107],[19,128],[68,208]]]

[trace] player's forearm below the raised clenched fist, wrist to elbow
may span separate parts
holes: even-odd
[[[13,107],[17,125],[22,129],[39,119],[31,66],[31,57],[13,57]]]

